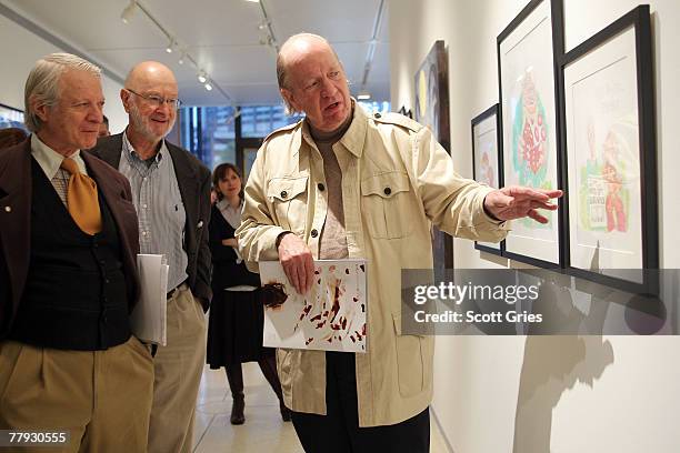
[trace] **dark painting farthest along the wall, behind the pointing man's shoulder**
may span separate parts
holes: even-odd
[[[437,141],[451,153],[449,135],[449,69],[444,42],[434,41],[416,73],[414,120],[432,130]],[[432,226],[434,272],[443,278],[444,269],[453,268],[452,238]]]

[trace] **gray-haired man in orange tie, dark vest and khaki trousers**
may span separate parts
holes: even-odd
[[[33,133],[0,153],[0,429],[70,433],[64,451],[139,452],[153,365],[130,333],[139,282],[130,184],[82,153],[100,69],[68,53],[26,83]]]

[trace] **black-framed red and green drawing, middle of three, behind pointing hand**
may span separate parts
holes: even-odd
[[[532,0],[498,36],[499,115],[504,185],[559,189],[557,60],[563,52],[562,7]],[[541,268],[561,265],[560,217],[512,222],[503,256]]]

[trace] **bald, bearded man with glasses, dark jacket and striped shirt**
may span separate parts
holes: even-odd
[[[210,290],[210,171],[164,140],[177,115],[170,69],[139,63],[120,92],[130,122],[92,152],[128,177],[143,253],[168,259],[168,344],[154,358],[150,452],[190,452],[196,399],[206,363],[203,311]]]

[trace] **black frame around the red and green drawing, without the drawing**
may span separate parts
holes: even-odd
[[[553,124],[554,128],[554,178],[556,178],[556,187],[553,187],[552,189],[560,189],[563,187],[562,184],[562,178],[561,178],[561,152],[559,149],[559,140],[560,140],[560,108],[559,108],[559,99],[560,99],[560,87],[558,83],[558,72],[559,72],[559,59],[563,56],[564,53],[564,26],[563,26],[563,4],[562,4],[562,0],[531,0],[522,10],[521,12],[508,24],[508,27],[506,27],[506,29],[503,29],[503,31],[498,36],[497,38],[497,58],[498,58],[498,88],[499,88],[499,123],[500,123],[500,129],[501,129],[501,140],[500,140],[500,145],[502,149],[502,162],[503,162],[503,170],[501,171],[501,173],[503,174],[503,183],[508,184],[508,183],[512,183],[512,181],[509,181],[506,177],[506,170],[507,167],[510,165],[511,163],[508,162],[508,160],[506,159],[504,154],[507,152],[509,152],[509,150],[511,149],[510,147],[506,147],[504,143],[504,131],[507,128],[512,128],[513,125],[510,124],[509,122],[506,121],[504,118],[504,111],[506,109],[510,109],[509,107],[506,107],[504,104],[508,103],[509,105],[509,100],[506,99],[503,97],[503,66],[502,66],[502,59],[501,59],[501,52],[502,52],[502,44],[503,41],[506,41],[506,39],[508,39],[509,37],[511,37],[511,34],[518,29],[520,28],[520,26],[523,26],[524,22],[531,17],[531,14],[537,10],[537,8],[539,8],[542,4],[549,4],[550,7],[550,22],[551,22],[551,30],[550,30],[550,34],[551,34],[551,39],[552,39],[552,46],[550,47],[552,56],[551,56],[551,69],[552,69],[552,90],[549,91],[549,95],[553,97],[553,105],[554,105],[554,118],[550,119]],[[509,129],[511,130],[511,129]],[[553,249],[551,250],[552,253],[552,259],[542,259],[542,258],[537,258],[534,255],[529,254],[529,252],[522,253],[519,251],[513,250],[510,246],[510,242],[509,240],[511,239],[510,236],[504,241],[504,246],[503,246],[503,251],[502,251],[502,256],[514,260],[514,261],[519,261],[519,262],[523,262],[530,265],[534,265],[537,268],[543,268],[543,269],[561,269],[563,268],[563,263],[564,263],[564,253],[563,253],[563,236],[564,236],[564,230],[563,230],[563,225],[562,225],[562,217],[561,217],[561,209],[562,209],[562,201],[559,200],[558,201],[558,205],[559,205],[559,211],[553,215],[554,222],[557,223],[556,225],[556,232],[552,233],[554,234],[556,239],[556,243],[553,245]],[[518,222],[518,221],[516,221]],[[512,234],[512,233],[511,233]],[[540,243],[539,241],[537,241],[536,243]],[[530,248],[527,248],[528,250]]]

